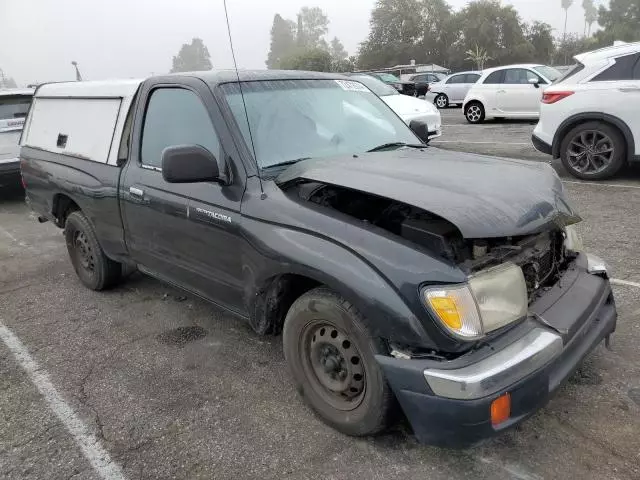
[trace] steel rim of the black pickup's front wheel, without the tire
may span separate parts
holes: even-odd
[[[313,390],[337,410],[357,408],[366,392],[362,355],[340,328],[326,320],[308,324],[300,336],[302,365]]]

